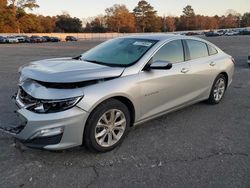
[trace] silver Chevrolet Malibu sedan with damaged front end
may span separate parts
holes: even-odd
[[[29,147],[84,144],[106,152],[131,126],[200,101],[218,104],[234,60],[199,38],[150,34],[108,40],[74,58],[32,62],[19,72],[20,125],[8,132]]]

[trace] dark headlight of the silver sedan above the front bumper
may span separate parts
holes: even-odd
[[[27,109],[36,113],[55,113],[74,107],[82,97],[62,100],[41,100]]]

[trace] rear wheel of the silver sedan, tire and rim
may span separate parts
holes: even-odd
[[[219,74],[214,80],[209,98],[207,102],[209,104],[218,104],[222,100],[227,87],[227,80],[223,74]]]

